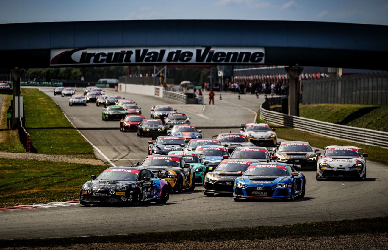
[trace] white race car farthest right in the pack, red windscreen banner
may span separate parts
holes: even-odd
[[[360,154],[361,148],[354,146],[327,146],[317,161],[317,180],[329,178],[354,178],[366,180],[368,154]]]

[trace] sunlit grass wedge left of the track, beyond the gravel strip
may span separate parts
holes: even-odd
[[[84,140],[55,102],[38,89],[22,89],[26,129],[40,154],[90,155],[92,146]]]

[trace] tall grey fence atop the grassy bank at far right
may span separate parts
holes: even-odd
[[[387,106],[388,73],[304,80],[302,103],[350,103]]]

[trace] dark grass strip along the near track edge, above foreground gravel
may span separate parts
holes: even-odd
[[[134,233],[113,236],[87,236],[29,240],[1,240],[0,247],[54,247],[91,243],[158,243],[182,241],[236,241],[268,238],[300,238],[388,232],[388,217],[312,222],[284,226],[222,228],[161,233]]]

